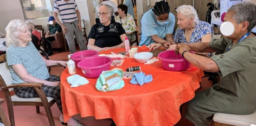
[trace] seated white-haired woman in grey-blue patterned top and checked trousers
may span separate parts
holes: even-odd
[[[62,113],[60,98],[60,77],[49,75],[47,66],[60,64],[67,66],[67,61],[46,60],[42,57],[34,44],[31,42],[31,33],[28,25],[22,20],[12,20],[6,30],[6,60],[9,66],[12,83],[44,83],[42,89],[47,97],[52,97]],[[14,92],[21,98],[38,97],[33,87],[14,88]],[[63,115],[60,122],[64,122]],[[68,120],[68,126],[76,126],[74,118]]]

